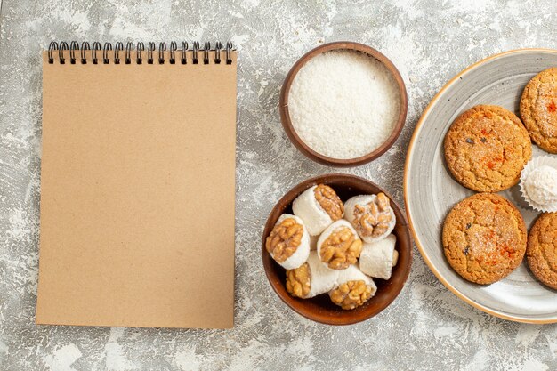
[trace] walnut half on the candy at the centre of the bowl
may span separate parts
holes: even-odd
[[[319,256],[332,270],[344,270],[354,264],[361,253],[361,239],[348,227],[339,227],[321,244]]]

